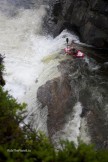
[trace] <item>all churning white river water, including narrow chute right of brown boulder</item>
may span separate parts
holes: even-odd
[[[4,89],[8,90],[18,102],[27,103],[28,117],[25,122],[32,120],[36,130],[42,130],[47,134],[47,108],[40,111],[36,92],[47,80],[60,76],[57,65],[66,56],[53,58],[66,46],[66,37],[70,41],[78,38],[66,30],[55,39],[42,34],[42,22],[48,6],[40,5],[45,4],[44,1],[31,2],[0,1],[0,53],[5,55]],[[88,59],[85,61],[89,62]],[[74,106],[73,113],[74,118],[69,117],[64,130],[58,132],[54,139],[68,138],[77,144],[77,137],[80,135],[81,139],[89,142],[86,120],[80,117],[82,113],[80,102]]]

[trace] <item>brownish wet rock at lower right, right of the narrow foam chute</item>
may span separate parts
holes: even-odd
[[[105,124],[105,116],[100,115],[99,112],[91,111],[87,115],[87,122],[89,126],[89,131],[92,139],[92,143],[96,145],[98,149],[108,149],[107,145],[107,135],[108,135],[108,125]]]

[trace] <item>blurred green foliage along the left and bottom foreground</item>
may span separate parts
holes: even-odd
[[[55,150],[44,134],[24,124],[25,108],[0,86],[0,162],[108,162],[107,150],[83,143],[76,148],[61,141],[61,149]]]

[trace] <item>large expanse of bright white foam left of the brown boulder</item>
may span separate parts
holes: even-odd
[[[41,117],[42,112],[38,110],[36,91],[45,81],[59,75],[58,62],[44,65],[41,60],[44,56],[63,49],[66,45],[66,37],[70,40],[76,38],[66,30],[55,39],[41,35],[44,16],[44,6],[33,10],[20,8],[14,17],[0,12],[0,52],[5,54],[4,89],[8,90],[18,102],[28,104],[28,114],[34,112],[35,127],[38,128],[43,127],[43,117]],[[35,83],[36,79],[39,81],[38,84]],[[44,119],[44,129],[46,129],[47,119],[46,117]]]

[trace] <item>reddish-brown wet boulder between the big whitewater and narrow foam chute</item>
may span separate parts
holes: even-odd
[[[47,127],[50,137],[63,128],[76,103],[76,96],[73,95],[69,77],[64,69],[65,65],[66,63],[63,63],[59,67],[62,70],[61,77],[46,82],[37,92],[42,107],[48,107]]]

